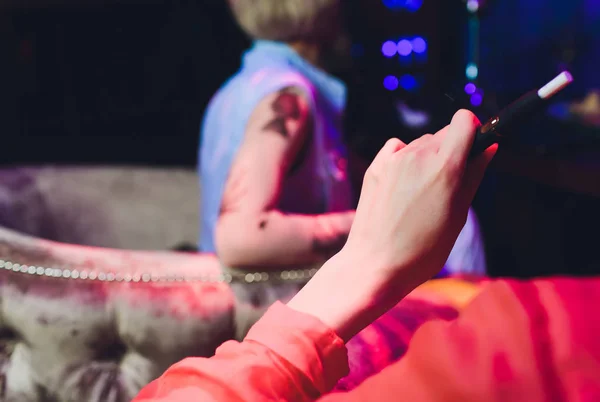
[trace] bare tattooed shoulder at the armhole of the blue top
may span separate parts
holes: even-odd
[[[310,106],[304,92],[287,87],[260,101],[250,117],[248,131],[291,139],[305,131],[309,119]]]

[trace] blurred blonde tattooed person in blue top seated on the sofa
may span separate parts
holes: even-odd
[[[225,269],[320,267],[345,244],[355,214],[347,89],[328,73],[349,62],[342,2],[229,4],[254,43],[203,121],[200,250]],[[472,211],[445,270],[485,273]]]

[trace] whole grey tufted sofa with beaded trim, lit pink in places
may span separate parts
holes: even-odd
[[[0,194],[2,401],[129,401],[174,362],[242,339],[316,271],[223,272],[212,255],[156,251],[196,241],[185,170],[6,169]],[[400,358],[423,322],[456,317],[442,293],[415,291],[353,339],[338,389]]]

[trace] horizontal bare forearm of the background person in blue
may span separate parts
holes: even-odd
[[[263,212],[221,216],[217,252],[232,267],[294,267],[326,261],[345,244],[354,211],[322,215]]]

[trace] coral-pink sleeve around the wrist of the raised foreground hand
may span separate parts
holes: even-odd
[[[347,372],[346,348],[334,332],[276,303],[244,342],[175,364],[134,401],[313,401]]]

